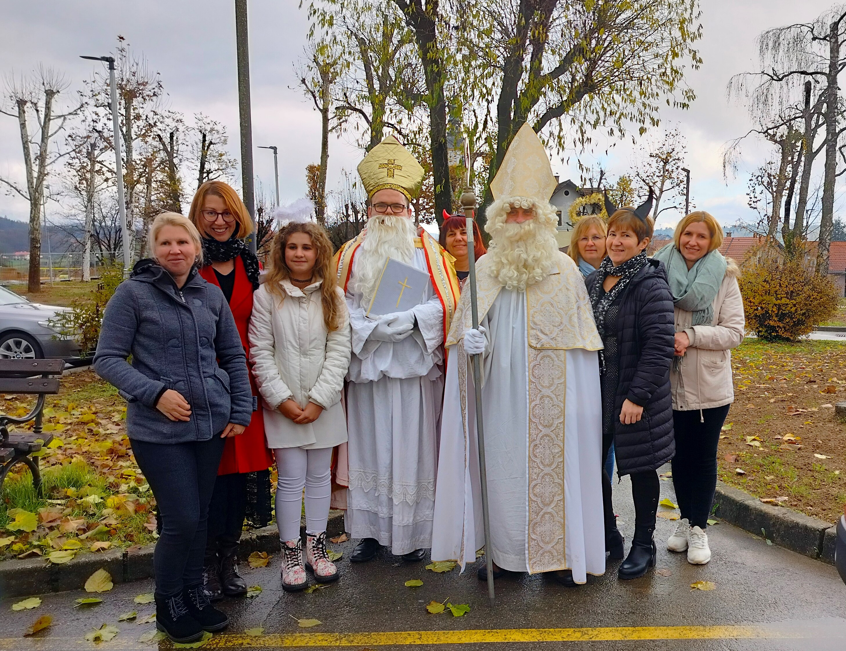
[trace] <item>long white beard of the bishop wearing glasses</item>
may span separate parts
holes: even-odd
[[[361,305],[370,305],[388,258],[411,264],[417,232],[409,217],[375,215],[367,222],[367,236],[355,255],[352,285],[361,294]]]

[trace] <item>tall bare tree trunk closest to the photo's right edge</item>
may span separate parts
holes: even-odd
[[[816,248],[816,273],[828,274],[828,249],[834,227],[834,186],[838,167],[838,65],[840,63],[840,21],[828,33],[829,54],[826,89],[826,164],[822,175],[822,216]]]

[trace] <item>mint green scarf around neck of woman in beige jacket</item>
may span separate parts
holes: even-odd
[[[708,325],[714,320],[714,298],[726,275],[726,259],[716,249],[696,260],[688,271],[687,263],[675,243],[669,243],[653,256],[667,268],[667,280],[673,303],[693,312],[692,325]]]

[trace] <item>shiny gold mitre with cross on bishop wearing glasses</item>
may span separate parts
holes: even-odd
[[[420,192],[426,175],[411,152],[393,135],[371,149],[359,163],[358,170],[368,198],[379,190],[393,189],[402,192],[410,201]]]

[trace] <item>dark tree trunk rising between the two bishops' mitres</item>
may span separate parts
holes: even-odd
[[[443,211],[453,211],[453,186],[449,180],[447,150],[447,99],[443,94],[443,57],[437,42],[439,0],[394,0],[405,14],[415,34],[420,64],[426,78],[426,104],[429,107],[431,172],[435,181],[435,219],[443,223]],[[481,224],[480,224],[481,226]]]

